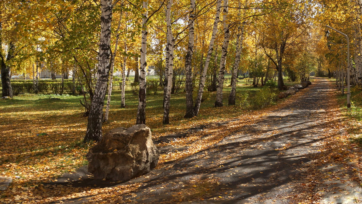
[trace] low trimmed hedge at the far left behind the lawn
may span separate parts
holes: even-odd
[[[14,93],[34,93],[33,80],[12,81],[11,87]],[[64,94],[73,93],[73,82],[64,80]],[[62,81],[41,80],[38,82],[39,93],[43,94],[59,94],[62,90]]]

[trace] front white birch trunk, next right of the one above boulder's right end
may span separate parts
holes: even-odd
[[[164,100],[164,111],[163,111],[163,124],[167,125],[169,121],[170,113],[170,98],[171,98],[171,89],[172,89],[172,76],[173,76],[173,50],[174,50],[174,37],[171,28],[171,7],[173,0],[168,0],[166,8],[166,25],[167,25],[167,47],[169,48],[169,59],[168,59],[168,73],[165,77],[167,79],[167,88]]]

